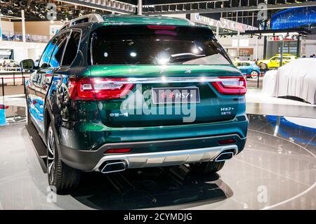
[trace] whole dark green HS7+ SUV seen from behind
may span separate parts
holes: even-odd
[[[26,81],[29,124],[47,146],[48,181],[82,171],[187,164],[219,171],[244,148],[246,81],[211,29],[164,17],[91,14],[49,41]]]

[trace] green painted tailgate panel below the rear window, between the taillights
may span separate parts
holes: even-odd
[[[190,71],[190,73],[188,72]],[[169,126],[234,119],[240,95],[224,95],[212,82],[241,74],[230,66],[93,66],[91,77],[129,84],[121,98],[97,100],[103,124]]]

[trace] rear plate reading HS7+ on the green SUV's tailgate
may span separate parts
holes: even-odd
[[[197,87],[152,88],[152,103],[199,103]]]

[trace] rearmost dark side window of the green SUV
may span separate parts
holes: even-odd
[[[62,66],[71,65],[74,58],[76,58],[80,37],[81,32],[75,30],[72,31],[65,50],[64,58],[62,59]]]

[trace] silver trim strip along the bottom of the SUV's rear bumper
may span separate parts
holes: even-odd
[[[157,167],[157,166],[177,166],[195,162],[208,162],[215,159],[224,150],[235,150],[237,145],[225,145],[217,147],[204,147],[193,150],[177,150],[166,152],[147,152],[135,154],[109,154],[100,159],[93,169],[99,171],[99,166],[104,162],[122,160],[127,164],[127,169]]]

